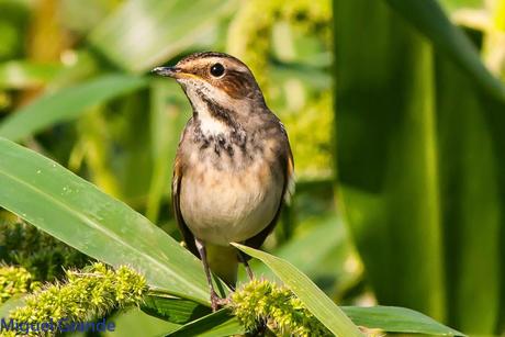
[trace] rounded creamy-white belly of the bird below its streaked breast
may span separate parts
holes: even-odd
[[[180,187],[182,217],[199,239],[223,246],[240,243],[273,220],[282,187],[283,181],[276,181],[258,162],[239,171],[210,165],[189,168]]]

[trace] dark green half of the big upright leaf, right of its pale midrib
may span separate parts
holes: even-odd
[[[505,200],[500,179],[505,156],[496,139],[505,132],[505,104],[489,104],[493,100],[475,90],[473,80],[454,64],[442,58],[437,64],[447,322],[469,334],[498,333],[496,323],[505,318],[497,295],[504,289],[501,217]],[[485,112],[502,115],[494,127]]]

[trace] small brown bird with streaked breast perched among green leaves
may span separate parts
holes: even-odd
[[[285,130],[249,68],[222,53],[198,53],[153,70],[175,78],[193,109],[177,151],[173,210],[187,247],[202,259],[212,308],[220,299],[209,268],[232,288],[247,257],[273,229],[293,184]]]

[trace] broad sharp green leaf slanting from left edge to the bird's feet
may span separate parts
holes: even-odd
[[[200,261],[147,218],[56,162],[0,139],[0,206],[152,287],[209,304]]]

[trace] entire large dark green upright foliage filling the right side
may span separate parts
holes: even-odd
[[[335,1],[335,32],[339,188],[379,302],[500,334],[503,83],[437,1]]]

